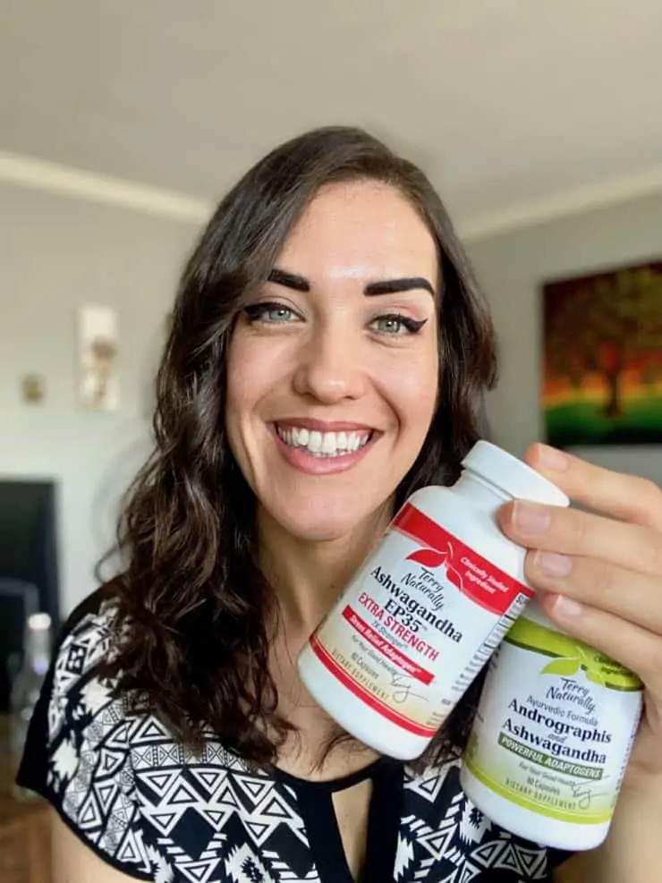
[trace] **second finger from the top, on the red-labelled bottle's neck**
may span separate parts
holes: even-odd
[[[641,524],[519,500],[503,507],[499,522],[521,546],[597,558],[662,581],[662,533]]]

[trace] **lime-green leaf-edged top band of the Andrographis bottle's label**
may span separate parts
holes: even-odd
[[[515,647],[552,657],[554,661],[541,669],[541,675],[572,677],[583,669],[587,679],[599,686],[611,690],[641,690],[639,677],[615,659],[605,656],[604,653],[594,650],[569,634],[555,632],[544,625],[531,622],[524,616],[515,620],[504,640]]]

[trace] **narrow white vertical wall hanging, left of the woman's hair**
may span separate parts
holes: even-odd
[[[81,403],[90,411],[116,411],[120,403],[117,373],[117,314],[110,307],[79,310]]]

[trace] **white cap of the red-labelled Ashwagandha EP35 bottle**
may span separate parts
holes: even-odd
[[[477,472],[510,497],[547,505],[570,505],[564,492],[517,457],[480,440],[463,459],[463,467]]]

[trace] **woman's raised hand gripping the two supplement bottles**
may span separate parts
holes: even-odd
[[[662,796],[662,490],[544,445],[526,459],[596,514],[517,502],[502,510],[502,529],[530,549],[527,577],[547,616],[641,677],[624,785]]]

